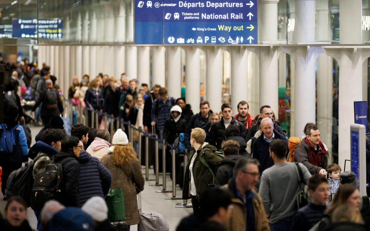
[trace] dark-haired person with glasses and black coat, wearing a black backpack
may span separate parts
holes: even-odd
[[[55,155],[54,162],[63,168],[63,180],[59,188],[62,196],[60,203],[64,206],[78,207],[78,183],[80,164],[78,157],[83,150],[83,143],[75,136],[66,136],[61,142],[61,152]]]

